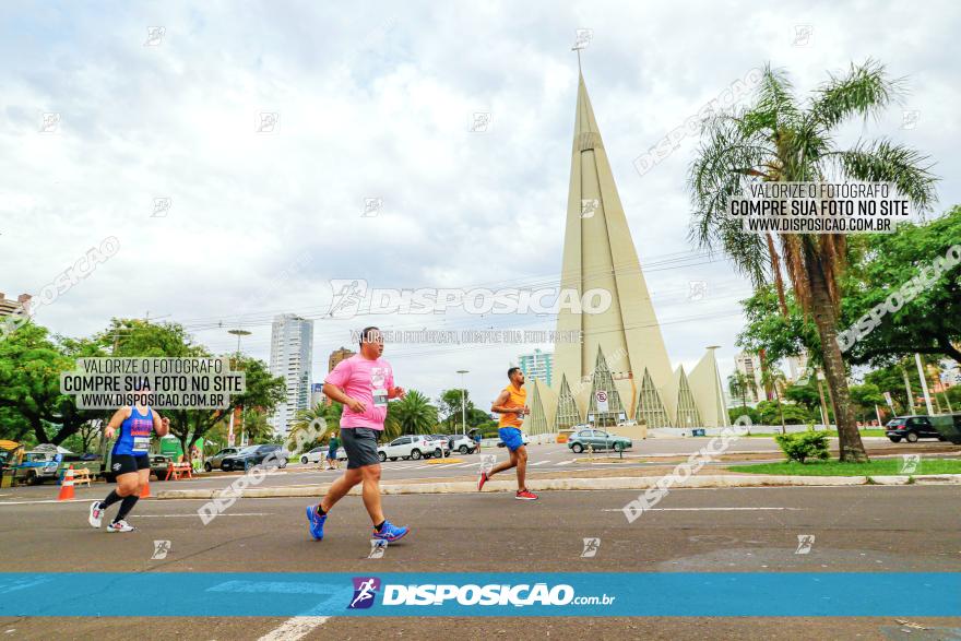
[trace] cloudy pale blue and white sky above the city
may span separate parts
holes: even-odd
[[[804,96],[874,58],[906,94],[839,145],[885,136],[929,155],[942,212],[961,202],[959,17],[948,1],[3,3],[0,290],[36,294],[116,238],[37,322],[70,336],[111,317],[179,322],[214,353],[241,327],[242,351],[268,360],[271,319],[298,313],[316,321],[316,381],[366,324],[554,329],[549,314],[332,319],[331,280],[556,283],[571,46],[590,29],[584,79],[672,363],[721,345],[726,377],[750,285],[688,238],[697,136],[643,174],[634,161],[752,69],[786,70]],[[466,369],[484,405],[534,347],[551,345],[384,356],[431,397]]]

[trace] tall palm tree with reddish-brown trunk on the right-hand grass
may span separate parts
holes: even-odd
[[[834,130],[852,117],[878,116],[899,98],[900,81],[890,80],[873,60],[829,76],[804,105],[782,71],[764,69],[754,104],[704,122],[689,189],[695,205],[691,237],[702,248],[719,246],[756,287],[773,278],[786,313],[782,265],[805,313],[814,316],[823,351],[824,372],[838,419],[842,461],[867,461],[847,391],[844,360],[837,342],[838,277],[846,257],[843,235],[747,234],[726,215],[727,200],[749,181],[891,182],[916,211],[936,200],[936,178],[927,157],[887,140],[859,141],[840,150]]]

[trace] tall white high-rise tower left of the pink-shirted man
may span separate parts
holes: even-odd
[[[271,328],[270,370],[273,376],[284,377],[287,384],[287,397],[277,405],[270,420],[277,435],[286,436],[297,412],[310,406],[312,354],[313,321],[293,313],[275,316]]]

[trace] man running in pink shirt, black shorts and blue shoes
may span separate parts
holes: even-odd
[[[408,527],[398,527],[383,518],[380,508],[380,458],[377,438],[383,431],[389,399],[403,399],[404,390],[394,385],[390,364],[383,360],[383,336],[377,328],[360,334],[360,354],[342,360],[323,381],[323,393],[344,405],[341,440],[347,452],[347,470],[330,487],[320,502],[307,507],[310,535],[323,538],[323,524],[334,505],[351,488],[363,483],[364,507],[373,521],[373,537],[393,543],[403,538]]]

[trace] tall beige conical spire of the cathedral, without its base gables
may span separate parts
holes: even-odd
[[[559,311],[558,331],[581,331],[583,343],[558,342],[555,367],[568,380],[580,381],[594,370],[600,348],[622,388],[621,399],[634,402],[637,387],[631,378],[640,384],[646,368],[668,415],[673,415],[675,401],[664,394],[672,382],[667,351],[580,71],[561,287],[577,289],[582,297],[598,290],[600,296],[609,297],[609,306],[596,313],[588,309],[577,313],[569,307]],[[597,296],[593,300],[597,301]],[[626,409],[633,414],[633,407]]]

